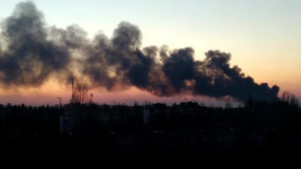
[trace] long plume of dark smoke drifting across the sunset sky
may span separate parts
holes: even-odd
[[[33,2],[21,2],[1,29],[0,83],[6,86],[40,86],[54,76],[67,82],[76,63],[77,78],[109,91],[136,86],[157,96],[278,98],[278,86],[256,84],[238,66],[230,67],[229,53],[210,50],[198,61],[192,47],[141,49],[142,33],[128,22],[121,22],[112,38],[98,33],[91,41],[78,25],[47,26]]]

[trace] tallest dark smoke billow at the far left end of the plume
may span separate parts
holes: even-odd
[[[0,81],[6,85],[39,86],[70,62],[68,48],[48,41],[43,14],[32,2],[16,5],[1,23],[6,49],[0,53]]]

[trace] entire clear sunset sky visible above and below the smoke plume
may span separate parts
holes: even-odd
[[[119,22],[137,25],[143,46],[163,44],[170,48],[191,46],[195,58],[204,59],[210,49],[232,54],[256,83],[280,86],[301,98],[301,0],[33,0],[49,25],[66,28],[78,24],[89,37],[102,31],[111,37]],[[1,0],[0,20],[11,14],[20,0]],[[68,86],[67,86],[68,87]],[[39,88],[0,89],[0,104],[67,103],[70,87],[49,81]],[[207,97],[159,98],[131,88],[107,92],[94,89],[95,101],[132,104],[134,101],[179,102],[189,99],[211,104]]]

